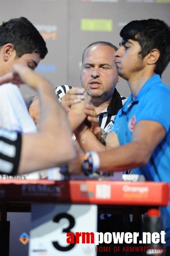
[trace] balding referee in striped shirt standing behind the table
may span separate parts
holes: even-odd
[[[115,88],[120,80],[114,62],[114,53],[117,49],[109,42],[97,41],[86,47],[82,55],[81,85],[91,96],[91,104],[97,113],[99,126],[106,132],[111,130],[115,115],[126,102],[126,98],[120,96]],[[78,99],[76,96],[77,88],[71,89],[72,87],[68,85],[55,87],[55,94],[68,112],[72,104],[82,99]],[[65,96],[66,93],[67,96],[69,94],[69,100]],[[71,120],[69,119],[69,121]],[[73,124],[74,122],[75,120],[73,120]],[[71,126],[73,126],[72,123]],[[98,232],[127,232],[128,226],[129,215],[108,213],[100,215],[98,218]],[[102,246],[107,245],[102,244]],[[117,246],[123,247],[124,244],[117,244]],[[98,252],[98,256],[109,256],[110,254],[113,256],[128,255],[126,252]]]

